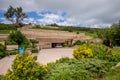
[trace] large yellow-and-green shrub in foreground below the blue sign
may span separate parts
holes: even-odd
[[[16,55],[12,68],[6,74],[7,80],[43,80],[46,66],[35,62],[34,57],[24,53]]]

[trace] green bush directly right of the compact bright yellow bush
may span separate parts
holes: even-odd
[[[107,60],[110,62],[119,62],[120,61],[120,50],[111,49],[102,44],[89,44],[86,45],[93,51],[93,58]]]

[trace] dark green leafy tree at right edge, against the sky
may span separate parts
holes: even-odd
[[[120,46],[120,23],[113,24],[104,34],[104,44],[107,46],[112,43],[114,46]]]

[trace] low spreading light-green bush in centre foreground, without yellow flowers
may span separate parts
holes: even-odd
[[[112,66],[105,60],[62,58],[48,64],[45,80],[95,80],[104,77]]]

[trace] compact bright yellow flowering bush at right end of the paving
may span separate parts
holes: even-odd
[[[84,59],[93,56],[93,53],[86,45],[81,45],[73,51],[73,56],[76,59]]]

